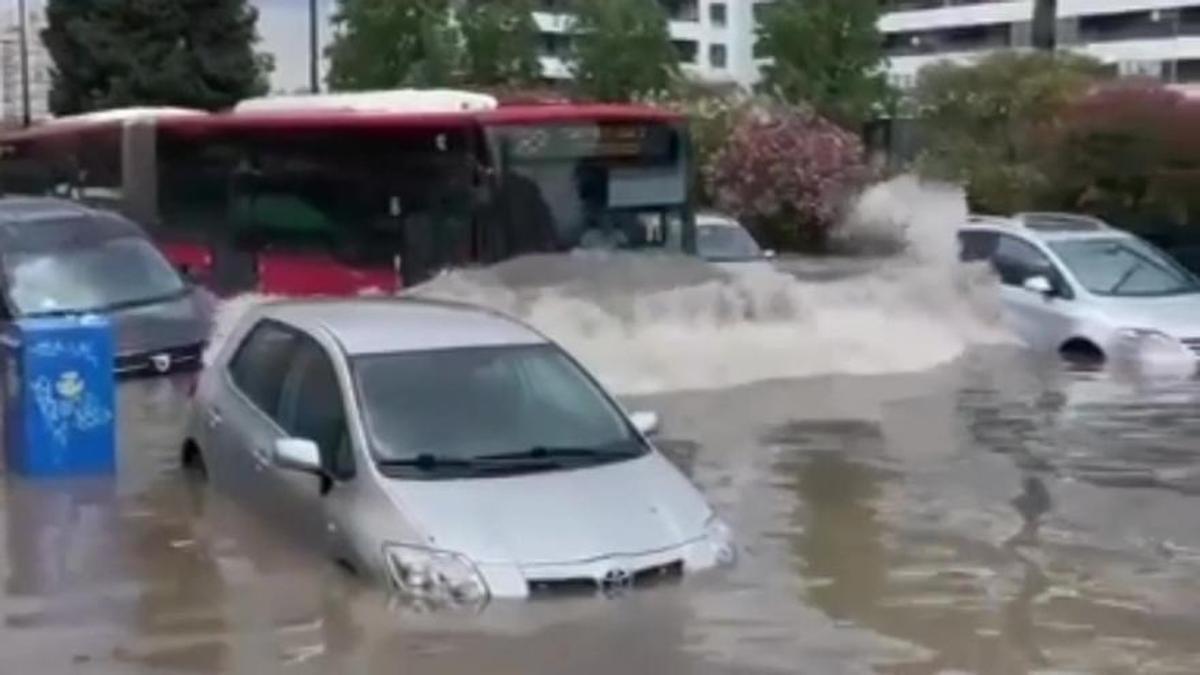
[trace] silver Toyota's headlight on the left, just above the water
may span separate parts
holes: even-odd
[[[431,608],[482,608],[490,591],[482,574],[464,556],[401,544],[384,546],[394,590]]]

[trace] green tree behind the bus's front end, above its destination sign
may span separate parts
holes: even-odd
[[[630,101],[678,82],[679,53],[658,2],[578,0],[575,12],[570,70],[580,94]]]

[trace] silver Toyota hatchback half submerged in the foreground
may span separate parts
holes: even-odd
[[[200,377],[184,461],[427,605],[733,562],[728,528],[562,348],[480,309],[264,304]]]

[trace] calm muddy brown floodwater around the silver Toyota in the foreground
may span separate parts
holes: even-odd
[[[0,673],[1200,673],[1195,382],[994,350],[632,400],[739,566],[478,616],[389,608],[188,479],[181,400],[122,390],[116,480],[6,479]]]

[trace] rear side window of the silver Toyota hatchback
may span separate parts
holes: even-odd
[[[264,321],[250,331],[229,364],[234,384],[264,414],[274,417],[278,408],[296,339],[295,331]]]

